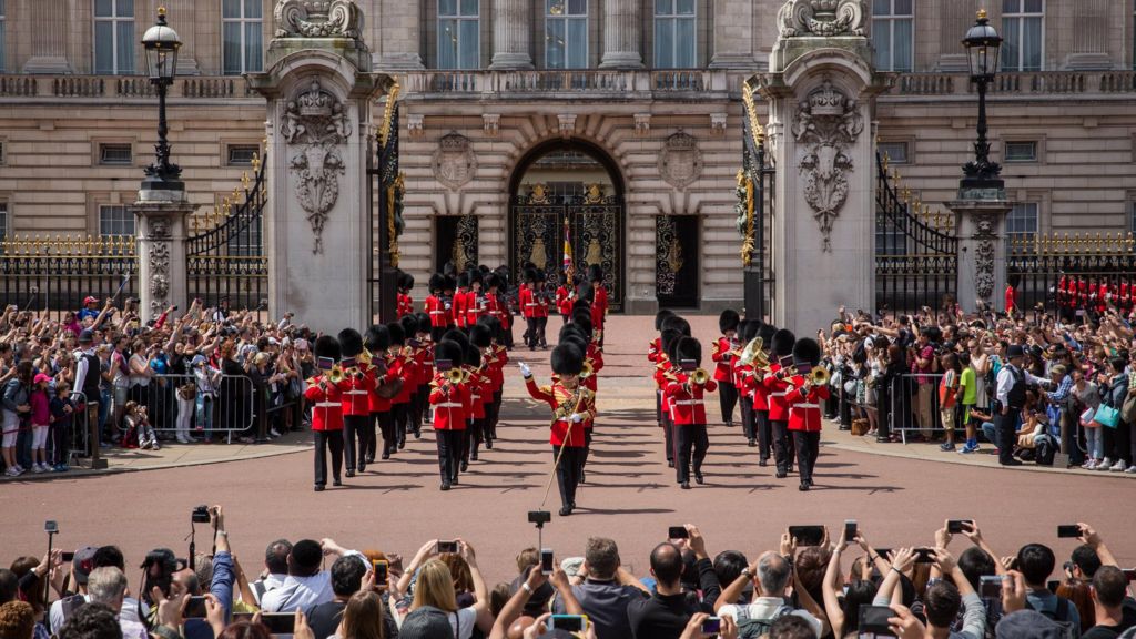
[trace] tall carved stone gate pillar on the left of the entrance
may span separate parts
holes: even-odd
[[[268,102],[269,313],[293,312],[333,334],[371,323],[368,138],[371,105],[393,84],[370,72],[358,7],[339,7],[344,13],[332,11],[332,20],[342,20],[315,16],[325,20],[325,38],[301,34],[311,32],[310,13],[302,27],[275,25],[283,35],[269,44],[267,70],[248,76]]]

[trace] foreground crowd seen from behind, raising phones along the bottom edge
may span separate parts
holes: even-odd
[[[1121,570],[1085,523],[1077,524],[1079,545],[1062,566],[1044,543],[1000,556],[974,521],[945,522],[925,547],[876,547],[851,522],[835,542],[827,529],[809,540],[786,532],[749,556],[711,553],[699,528],[687,524],[684,537],[653,548],[649,574],[632,574],[615,540],[592,537],[549,563],[536,548],[520,550],[516,579],[491,588],[463,539],[429,540],[409,562],[392,548],[277,539],[253,569],[259,574],[247,573],[229,550],[224,512],[214,506],[208,513],[212,555],[151,550],[137,592],[115,546],[78,548],[69,562],[59,550],[16,558],[0,570],[0,638],[1136,636],[1134,571]],[[955,537],[968,547],[952,547]],[[568,632],[566,622],[583,630]]]

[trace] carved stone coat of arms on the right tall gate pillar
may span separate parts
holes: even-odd
[[[847,98],[825,78],[801,102],[793,119],[793,136],[801,143],[801,173],[804,199],[820,223],[822,250],[830,251],[833,222],[849,194],[847,174],[852,172],[849,146],[863,131],[863,118],[855,100]]]

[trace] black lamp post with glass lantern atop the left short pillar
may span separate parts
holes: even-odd
[[[174,83],[177,68],[177,50],[182,42],[177,32],[166,24],[166,8],[158,7],[158,22],[142,36],[145,48],[145,64],[150,83],[158,86],[158,144],[154,161],[145,167],[144,191],[184,191],[185,184],[178,180],[182,168],[169,161],[169,141],[166,139],[166,91]]]

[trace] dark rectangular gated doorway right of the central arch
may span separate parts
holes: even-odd
[[[699,306],[699,216],[654,219],[654,291],[660,308]]]

